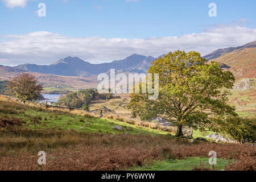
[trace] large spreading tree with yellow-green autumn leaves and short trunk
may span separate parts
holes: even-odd
[[[148,93],[133,93],[129,108],[142,119],[163,117],[172,122],[177,137],[183,136],[184,125],[209,129],[227,115],[236,115],[226,104],[234,76],[198,52],[170,52],[152,61],[148,73],[159,74],[159,97],[149,100]]]

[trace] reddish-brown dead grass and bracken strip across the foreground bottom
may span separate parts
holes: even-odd
[[[170,135],[110,135],[58,129],[13,129],[0,134],[0,170],[120,170],[153,160],[208,157],[212,150],[217,158],[240,161],[227,169],[255,169],[250,167],[255,166],[255,147],[239,144],[193,144]],[[37,163],[39,151],[47,153],[46,166]],[[254,160],[243,162],[243,156]]]

